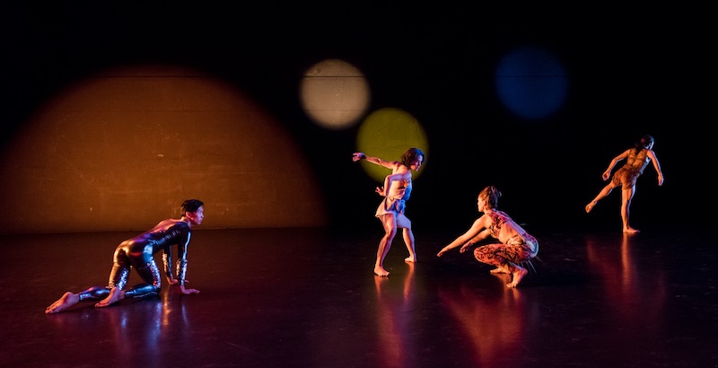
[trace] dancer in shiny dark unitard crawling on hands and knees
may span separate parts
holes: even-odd
[[[57,302],[53,302],[45,313],[57,313],[66,310],[77,302],[100,300],[95,307],[107,307],[126,297],[143,298],[160,294],[162,282],[160,270],[154,262],[154,254],[163,251],[162,261],[167,282],[180,285],[181,294],[198,294],[197,289],[185,288],[187,275],[187,250],[191,238],[192,225],[202,223],[205,218],[204,204],[197,199],[188,199],[181,206],[180,219],[167,219],[157,223],[153,229],[143,232],[132,239],[122,241],[115,250],[114,264],[109,273],[106,287],[94,286],[79,294],[65,293]],[[177,278],[172,276],[172,246],[177,245]],[[127,277],[131,269],[144,280],[143,284],[125,290]]]

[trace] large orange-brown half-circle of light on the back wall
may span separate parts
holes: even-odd
[[[178,66],[127,66],[58,93],[0,161],[4,232],[145,230],[206,203],[203,228],[321,226],[298,145],[235,86]]]

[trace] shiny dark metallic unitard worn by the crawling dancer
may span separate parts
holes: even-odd
[[[187,275],[187,249],[191,232],[189,224],[179,220],[164,220],[152,230],[143,232],[132,239],[122,241],[115,250],[114,264],[109,273],[106,287],[95,286],[80,293],[80,300],[104,299],[110,289],[120,290],[127,285],[129,271],[135,268],[144,283],[135,285],[125,292],[126,297],[142,298],[160,294],[162,281],[160,270],[154,261],[154,254],[163,251],[162,261],[167,276],[172,277],[172,246],[177,245],[177,277],[180,285],[184,285]]]

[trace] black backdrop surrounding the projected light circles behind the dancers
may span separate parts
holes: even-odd
[[[329,131],[303,114],[308,66],[341,58],[372,85],[372,110],[398,107],[431,146],[407,214],[430,227],[468,227],[486,185],[520,223],[620,226],[613,193],[586,215],[611,158],[656,138],[665,184],[638,180],[641,228],[712,220],[713,25],[690,4],[582,2],[24,2],[5,4],[3,138],[67,83],[107,66],[162,62],[235,83],[296,136],[333,224],[376,221],[377,183],[351,162],[356,129]],[[525,121],[495,95],[495,66],[536,45],[565,65],[565,106]],[[387,158],[392,159],[392,158]],[[350,180],[346,180],[346,179]],[[344,183],[337,186],[337,179]]]

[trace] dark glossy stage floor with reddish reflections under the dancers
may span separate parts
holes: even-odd
[[[0,366],[715,367],[714,235],[655,229],[536,232],[536,273],[518,289],[458,250],[459,232],[416,230],[373,276],[380,227],[201,230],[189,286],[95,309],[45,307],[103,285],[135,232],[5,237]],[[138,282],[136,275],[130,284]]]

